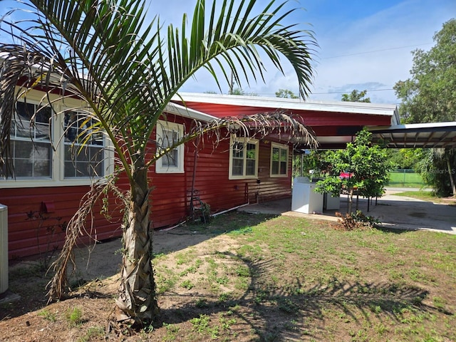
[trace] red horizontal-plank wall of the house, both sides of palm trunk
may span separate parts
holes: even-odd
[[[168,116],[168,120],[171,120]],[[190,120],[175,119],[177,123]],[[150,170],[150,180],[154,190],[150,198],[152,227],[169,227],[184,221],[189,204],[187,191],[192,189],[195,170],[195,189],[200,197],[211,206],[212,212],[237,207],[247,202],[264,202],[291,196],[291,153],[288,177],[269,177],[271,145],[267,141],[259,143],[259,173],[257,179],[229,180],[229,140],[220,142],[217,149],[208,140],[199,147],[195,170],[195,146],[192,142],[185,146],[185,172],[182,174],[155,173]],[[120,178],[120,186],[127,188],[126,180]],[[88,186],[35,187],[0,189],[0,203],[9,210],[9,258],[26,257],[38,252],[46,252],[54,246],[61,247],[65,233],[61,226],[71,219],[79,207]],[[29,219],[28,212],[38,214],[42,202],[50,211],[43,213],[44,220]],[[121,235],[122,207],[110,201],[111,216],[108,222],[100,214],[100,207],[93,209],[96,239],[103,240]],[[60,218],[60,219],[58,219]],[[50,229],[55,229],[51,234]],[[51,244],[48,245],[48,242]]]

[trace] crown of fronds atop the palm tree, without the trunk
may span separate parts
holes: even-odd
[[[206,1],[198,0],[190,30],[184,15],[180,30],[168,26],[162,31],[158,17],[147,22],[145,1],[31,0],[36,17],[27,28],[13,22],[0,26],[19,42],[0,44],[2,56],[9,56],[0,75],[0,161],[6,165],[10,155],[16,100],[11,89],[24,76],[24,93],[40,79],[41,88],[88,103],[115,150],[129,155],[145,150],[172,96],[201,68],[222,88],[230,75],[239,84],[242,78],[248,83],[264,80],[263,58],[283,72],[285,58],[296,71],[301,96],[306,96],[314,37],[296,25],[282,25],[294,13],[284,11],[286,1],[271,0],[252,15],[258,2],[242,0],[235,6],[233,0],[224,0],[219,6],[213,1],[207,21]],[[117,145],[119,137],[128,145]],[[121,160],[128,170],[128,158]]]

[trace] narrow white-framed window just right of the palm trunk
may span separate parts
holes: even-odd
[[[157,152],[165,155],[157,160],[157,173],[184,173],[184,145],[174,146],[184,135],[184,126],[167,121],[157,123]]]

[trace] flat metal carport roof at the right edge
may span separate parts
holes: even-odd
[[[456,147],[456,122],[413,123],[369,128],[373,142],[385,143],[386,147]]]

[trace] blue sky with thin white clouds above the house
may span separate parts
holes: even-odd
[[[218,0],[219,2],[221,0]],[[160,15],[164,24],[180,26],[182,14],[192,14],[195,0],[150,0],[149,14]],[[207,0],[210,3],[210,0]],[[262,6],[267,1],[258,1]],[[0,1],[0,15],[12,1]],[[314,56],[311,100],[340,100],[353,89],[368,90],[376,103],[398,103],[392,90],[397,81],[410,76],[411,51],[429,50],[432,36],[456,16],[455,0],[290,0],[298,11],[290,19],[314,31],[319,48]],[[291,23],[290,23],[291,24]],[[269,67],[266,63],[266,67]],[[296,76],[288,63],[285,75],[268,68],[266,84],[246,83],[247,93],[274,96],[279,88],[298,92]],[[217,90],[212,76],[198,73],[182,91]],[[228,86],[222,86],[227,93]]]

